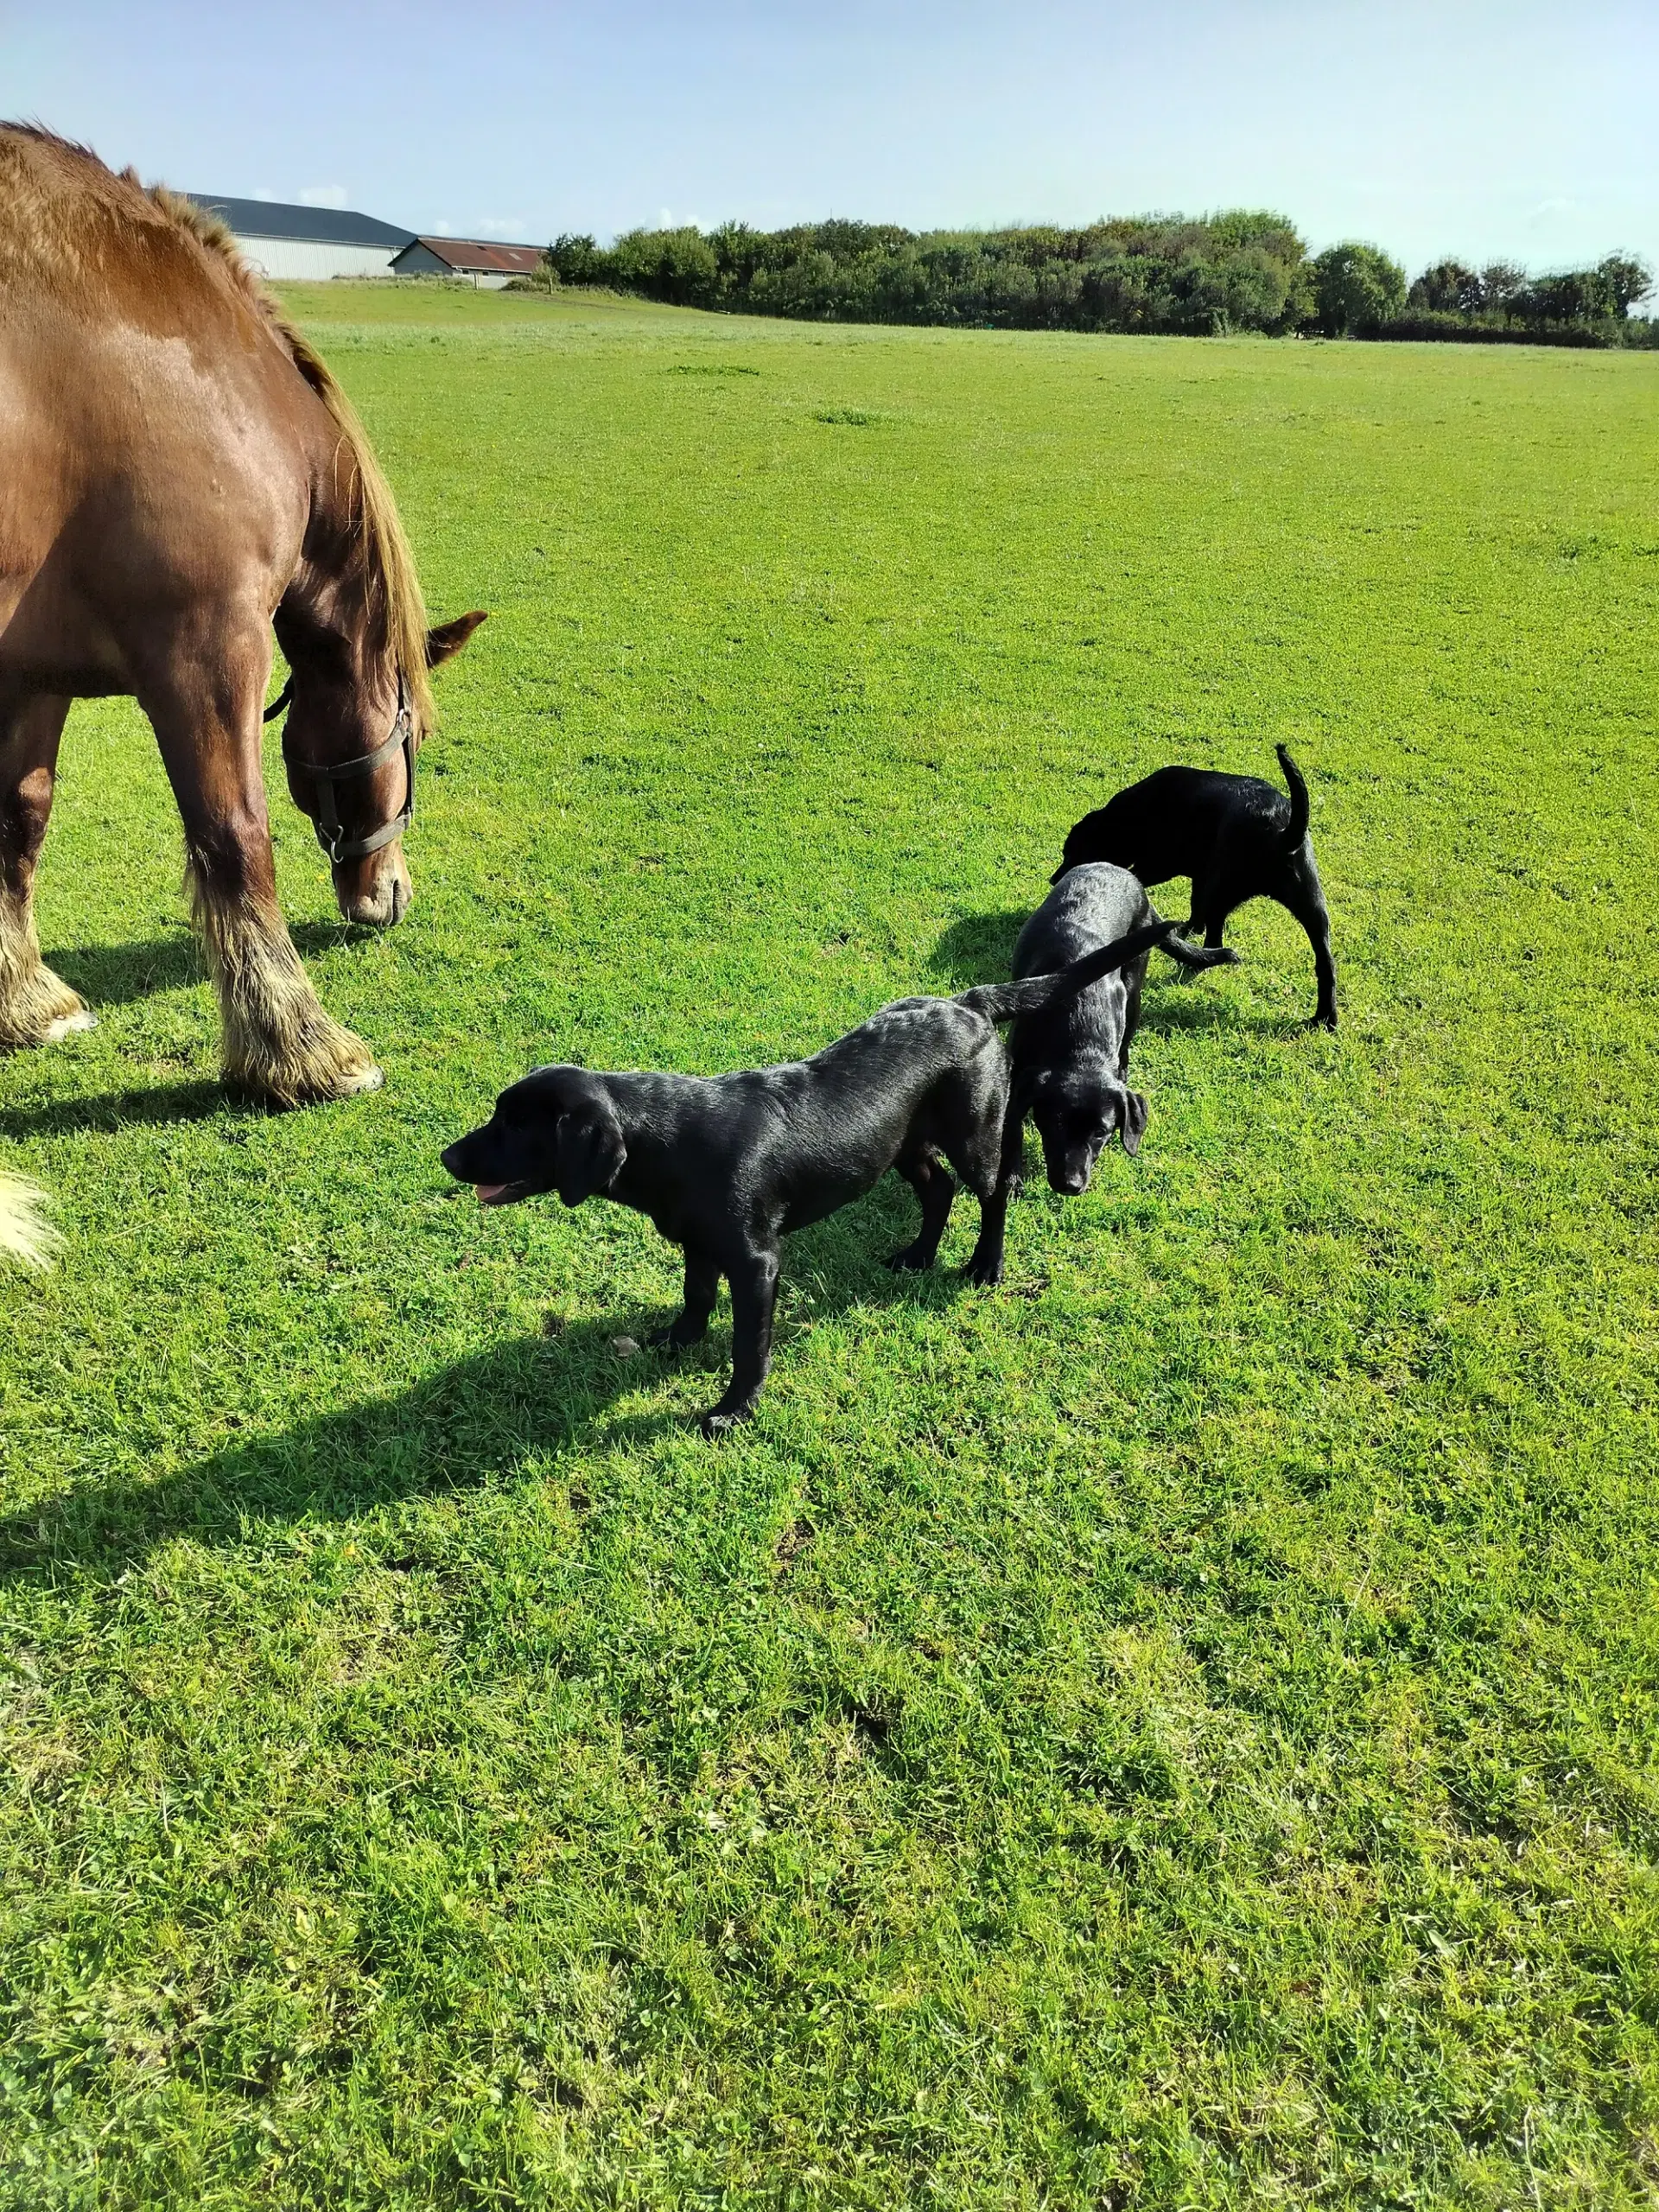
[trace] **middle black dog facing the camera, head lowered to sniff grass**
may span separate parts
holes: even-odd
[[[1066,869],[1013,947],[1015,975],[1066,971],[1099,945],[1157,920],[1135,876],[1106,860]],[[1188,969],[1225,967],[1239,956],[1225,945],[1197,951],[1179,936],[1164,942]],[[1015,1015],[1009,1037],[1013,1075],[1004,1135],[1004,1179],[1020,1172],[1026,1115],[1037,1124],[1048,1188],[1062,1197],[1088,1190],[1095,1161],[1121,1135],[1135,1155],[1146,1133],[1146,1099],[1128,1088],[1128,1048],[1141,1022],[1146,953],[1091,982],[1086,991]]]

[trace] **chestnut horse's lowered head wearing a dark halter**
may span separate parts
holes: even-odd
[[[480,622],[484,615],[458,615],[427,630],[427,668],[460,653]],[[294,670],[283,695],[292,701],[288,790],[316,825],[341,914],[347,922],[400,922],[414,896],[403,832],[414,814],[422,701],[394,668],[365,670],[345,639],[296,613],[276,611],[276,639]]]

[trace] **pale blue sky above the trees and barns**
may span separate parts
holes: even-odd
[[[184,190],[544,241],[1274,206],[1659,263],[1659,0],[0,0],[0,113]]]

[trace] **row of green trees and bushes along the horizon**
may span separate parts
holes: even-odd
[[[1376,246],[1310,254],[1267,210],[1144,215],[1077,230],[905,230],[794,223],[752,230],[628,230],[615,246],[564,234],[549,276],[679,307],[825,323],[958,323],[978,330],[1091,330],[1223,336],[1473,338],[1568,345],[1659,343],[1630,314],[1652,292],[1632,254],[1528,276],[1509,261],[1438,261],[1407,285]]]

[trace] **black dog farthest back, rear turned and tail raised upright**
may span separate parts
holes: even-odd
[[[1203,931],[1221,945],[1228,916],[1248,898],[1274,898],[1296,916],[1314,947],[1318,1004],[1314,1020],[1336,1029],[1336,962],[1332,918],[1307,836],[1307,785],[1276,748],[1290,799],[1261,776],[1223,776],[1210,768],[1159,768],[1073,825],[1060,867],[1113,860],[1141,883],[1192,878],[1192,918],[1183,936]]]

